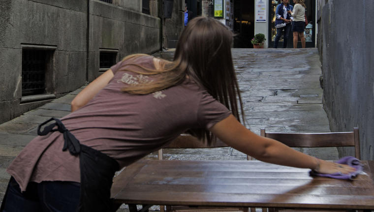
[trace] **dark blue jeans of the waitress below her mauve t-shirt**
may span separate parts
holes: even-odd
[[[80,183],[29,182],[21,193],[18,183],[11,178],[1,212],[75,212],[79,204]]]

